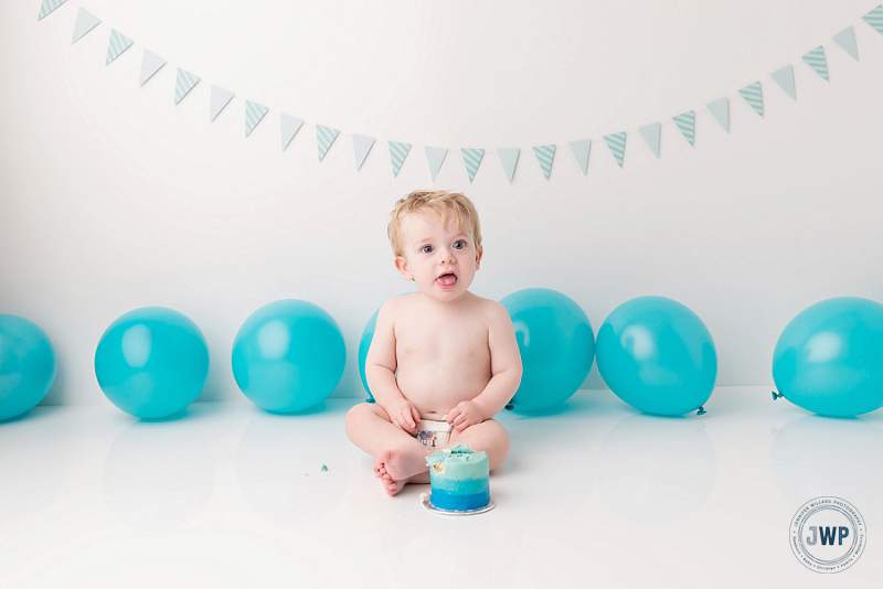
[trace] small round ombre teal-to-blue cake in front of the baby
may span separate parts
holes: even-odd
[[[488,454],[453,446],[426,457],[429,503],[439,510],[470,511],[490,502]]]

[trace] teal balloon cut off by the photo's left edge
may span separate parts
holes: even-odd
[[[55,351],[39,326],[0,314],[0,421],[28,413],[55,381]]]

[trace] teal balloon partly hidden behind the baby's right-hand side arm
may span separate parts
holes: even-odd
[[[549,409],[567,400],[588,376],[595,334],[583,309],[545,288],[517,290],[500,300],[521,353],[521,384],[511,400],[515,411]]]

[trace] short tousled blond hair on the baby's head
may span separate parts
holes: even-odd
[[[407,196],[398,199],[395,207],[390,213],[390,224],[386,225],[386,235],[393,246],[393,255],[403,254],[402,219],[409,213],[432,210],[442,217],[442,224],[447,224],[448,213],[457,215],[460,231],[472,236],[476,249],[481,246],[481,226],[478,223],[478,212],[472,201],[461,192],[444,190],[415,190]]]

